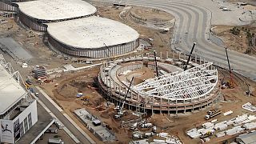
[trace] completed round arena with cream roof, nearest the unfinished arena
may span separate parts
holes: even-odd
[[[91,16],[47,25],[50,45],[71,56],[108,58],[138,47],[136,30],[108,18]]]

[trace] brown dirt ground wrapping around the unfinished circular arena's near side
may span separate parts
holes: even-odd
[[[230,76],[226,70],[218,71],[220,83],[230,81]],[[141,72],[143,73],[143,70]],[[127,129],[120,127],[120,121],[113,118],[115,114],[114,105],[111,104],[110,106],[106,106],[106,100],[102,98],[101,94],[98,93],[97,88],[93,84],[93,78],[96,77],[97,74],[98,68],[75,74],[63,74],[62,77],[56,78],[53,83],[48,83],[41,86],[56,102],[58,102],[60,106],[62,106],[62,108],[68,114],[73,115],[73,111],[75,109],[85,107],[86,110],[89,110],[114,131],[117,136],[118,143],[128,143],[131,140],[132,131],[130,131],[129,128]],[[174,134],[185,143],[198,143],[198,138],[190,139],[186,136],[185,132],[186,130],[190,130],[196,126],[201,126],[202,123],[206,122],[204,116],[206,115],[207,110],[218,108],[223,112],[228,110],[234,111],[234,114],[229,116],[219,115],[217,117],[218,121],[234,118],[238,114],[251,114],[249,111],[243,110],[241,106],[246,102],[256,103],[256,84],[255,82],[251,82],[246,78],[242,78],[242,76],[234,75],[233,78],[235,88],[221,90],[221,94],[223,96],[219,98],[218,102],[215,102],[212,106],[194,113],[178,115],[154,114],[151,118],[148,118],[148,122],[152,122],[154,125],[156,125],[158,127],[158,132],[168,132],[170,134]],[[250,85],[250,89],[252,90],[252,94],[254,94],[254,96],[246,96],[245,92],[248,90],[248,86],[245,82]],[[55,83],[58,83],[57,87],[54,87]],[[57,93],[59,90],[63,90],[63,93]],[[65,93],[66,90],[74,90],[74,94],[70,92]],[[80,100],[81,98],[76,98],[75,93],[78,92],[82,92],[86,98],[89,99],[89,101],[82,101]],[[128,114],[123,119],[127,120],[133,118],[136,117],[133,117],[132,114]],[[82,126],[82,124],[80,123],[79,126]],[[84,126],[82,126],[82,128],[86,130]],[[144,132],[147,132],[147,130],[144,130]],[[156,137],[152,137],[150,140],[153,140],[153,138]],[[212,142],[222,142],[223,140],[230,138],[231,137],[213,137]]]

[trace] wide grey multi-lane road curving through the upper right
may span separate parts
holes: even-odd
[[[114,2],[104,0],[104,2]],[[190,2],[174,0],[126,0],[129,5],[146,6],[165,10],[176,18],[173,46],[176,50],[189,52],[197,42],[194,54],[198,54],[215,65],[227,67],[225,49],[208,40],[211,25],[210,10]],[[256,58],[228,50],[231,68],[256,81]]]

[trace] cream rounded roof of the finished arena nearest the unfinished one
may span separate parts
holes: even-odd
[[[101,48],[138,39],[138,32],[122,22],[108,18],[88,17],[47,23],[47,31],[58,42],[77,48]]]

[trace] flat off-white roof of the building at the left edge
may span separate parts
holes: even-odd
[[[0,65],[0,115],[22,99],[26,90]]]

